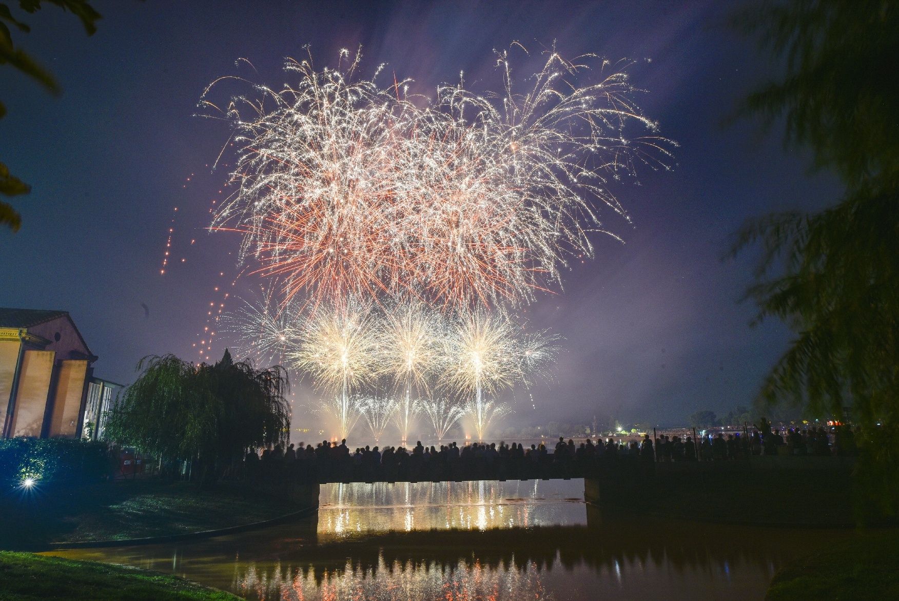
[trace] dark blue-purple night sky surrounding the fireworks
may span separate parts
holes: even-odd
[[[231,285],[241,269],[238,239],[204,229],[227,181],[227,168],[211,166],[229,130],[195,116],[197,101],[224,75],[280,88],[290,80],[283,59],[305,57],[307,44],[319,67],[361,44],[364,75],[386,62],[387,73],[413,78],[417,92],[457,81],[460,70],[469,88],[498,89],[493,49],[513,41],[530,50],[512,53],[521,75],[542,65],[554,40],[566,58],[636,60],[631,81],[648,91],[638,102],[680,144],[674,169],[646,168],[639,185],[614,185],[633,223],[601,216],[626,243],[594,236],[595,258],[574,265],[564,292],[528,309],[534,327],[564,336],[565,351],[556,378],[531,390],[536,408],[520,392],[510,423],[612,414],[678,425],[697,409],[723,413],[752,401],[786,347],[785,327],[749,327],[752,304],[737,302],[751,254],[720,257],[746,218],[819,207],[840,188],[826,174],[810,175],[807,156],[785,151],[779,129],[722,125],[772,68],[754,41],[725,27],[730,3],[93,4],[103,19],[91,38],[52,6],[30,19],[31,34],[14,38],[58,76],[60,98],[0,68],[9,111],[0,160],[32,185],[30,196],[13,199],[22,230],[0,231],[0,306],[70,311],[100,357],[100,377],[133,381],[145,354],[198,358],[192,345],[204,337],[209,303],[218,309],[228,292],[230,309],[235,295],[258,288],[252,275]],[[212,359],[227,344],[220,336]],[[307,414],[307,395],[296,388],[295,422]]]

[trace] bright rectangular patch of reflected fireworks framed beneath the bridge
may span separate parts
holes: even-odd
[[[325,484],[318,534],[586,525],[583,480]],[[567,500],[567,502],[565,502]]]

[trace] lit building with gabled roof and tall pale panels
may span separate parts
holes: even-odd
[[[120,384],[94,378],[96,360],[68,311],[0,308],[2,437],[102,435]]]

